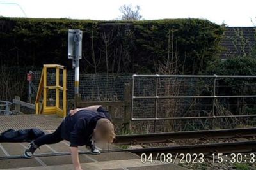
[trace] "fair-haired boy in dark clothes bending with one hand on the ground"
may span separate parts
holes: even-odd
[[[80,170],[77,146],[90,146],[91,153],[99,154],[94,141],[112,143],[115,139],[114,125],[108,111],[102,106],[89,106],[70,110],[68,116],[52,134],[46,134],[32,141],[24,152],[26,158],[33,157],[36,148],[44,144],[70,141],[72,162],[76,170]]]

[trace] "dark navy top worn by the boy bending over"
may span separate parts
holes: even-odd
[[[80,110],[75,115],[68,115],[63,120],[61,136],[63,139],[70,141],[72,147],[87,145],[100,118],[111,120],[108,111],[102,110],[102,107],[97,112]]]

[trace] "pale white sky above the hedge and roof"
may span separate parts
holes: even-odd
[[[0,0],[0,15],[115,20],[124,4],[139,5],[145,20],[202,18],[230,27],[256,25],[256,0]]]

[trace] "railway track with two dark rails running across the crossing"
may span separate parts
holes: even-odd
[[[182,136],[183,134],[183,136]],[[197,131],[197,132],[173,132],[163,134],[141,134],[141,135],[129,135],[129,136],[117,136],[115,144],[128,145],[134,140],[137,143],[150,143],[150,142],[166,142],[168,139],[200,139],[200,138],[245,138],[256,136],[256,128],[246,129],[225,129],[217,131]],[[143,138],[144,137],[144,138]],[[256,141],[244,140],[227,143],[207,143],[200,145],[183,145],[183,146],[168,146],[168,147],[154,147],[154,148],[128,148],[128,149],[111,149],[102,150],[102,153],[106,152],[132,152],[137,155],[146,154],[157,157],[157,154],[167,153],[203,153],[204,155],[211,155],[212,153],[245,153],[256,152]],[[90,152],[79,152],[79,154],[88,154]],[[59,153],[38,153],[35,157],[49,157],[70,155],[69,152]],[[12,155],[6,157],[0,157],[3,159],[20,159],[23,155]]]

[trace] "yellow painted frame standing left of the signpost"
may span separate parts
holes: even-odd
[[[47,85],[47,69],[56,69],[56,85]],[[60,69],[63,70],[63,86],[60,86]],[[56,91],[56,102],[55,106],[47,106],[47,95],[49,89],[55,89]],[[43,90],[43,103],[40,107],[40,97]],[[60,90],[63,91],[63,108],[60,108]],[[57,114],[59,117],[66,117],[67,113],[67,70],[65,66],[58,64],[44,64],[42,70],[40,83],[36,95],[36,114]]]

